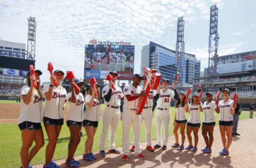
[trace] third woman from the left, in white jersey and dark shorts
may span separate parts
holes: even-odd
[[[66,165],[69,167],[79,167],[80,164],[80,162],[76,161],[73,156],[81,140],[80,130],[82,128],[85,104],[83,94],[74,89],[75,84],[80,90],[82,90],[84,82],[79,79],[70,80],[71,92],[68,93],[69,110],[66,119],[66,123],[70,131],[68,158],[66,159]]]

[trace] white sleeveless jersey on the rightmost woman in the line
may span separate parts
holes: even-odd
[[[234,101],[229,99],[226,103],[224,103],[224,100],[221,100],[219,102],[220,107],[220,114],[219,114],[219,120],[220,121],[231,121],[233,120],[233,115],[231,114],[231,108],[233,107]]]

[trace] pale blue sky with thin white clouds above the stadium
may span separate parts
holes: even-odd
[[[135,45],[135,72],[141,48],[154,41],[175,50],[177,18],[185,20],[185,51],[207,65],[210,6],[219,7],[219,55],[256,50],[256,1],[10,1],[0,0],[0,39],[27,44],[27,18],[36,17],[36,69],[73,70],[83,78],[84,47],[90,39]],[[43,75],[42,81],[49,81]]]

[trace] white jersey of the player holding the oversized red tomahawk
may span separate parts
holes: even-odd
[[[134,86],[131,85],[126,85],[124,87],[124,108],[132,108],[132,109],[136,109],[138,103],[139,103],[139,98],[132,100],[132,101],[128,101],[127,98],[125,97],[125,95],[138,95],[140,92],[142,91],[141,87],[138,86],[137,88],[134,88]]]

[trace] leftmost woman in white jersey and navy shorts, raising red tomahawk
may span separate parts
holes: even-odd
[[[20,149],[21,167],[30,167],[31,159],[44,146],[44,135],[41,126],[41,110],[43,97],[41,94],[40,77],[42,72],[35,70],[35,77],[27,73],[28,84],[20,90],[20,116],[18,126],[21,130],[22,147]],[[33,85],[37,81],[37,88]],[[35,141],[35,146],[30,149]]]

